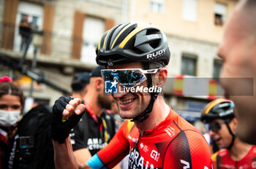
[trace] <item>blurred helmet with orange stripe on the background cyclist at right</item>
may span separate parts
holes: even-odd
[[[201,112],[201,120],[210,122],[213,119],[233,119],[235,103],[224,98],[217,98],[208,103]]]

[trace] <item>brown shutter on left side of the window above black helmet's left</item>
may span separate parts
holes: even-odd
[[[83,44],[83,22],[86,15],[82,12],[75,12],[73,38],[72,38],[72,56],[73,59],[80,59]]]

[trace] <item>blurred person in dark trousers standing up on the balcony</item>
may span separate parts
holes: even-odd
[[[32,40],[32,29],[33,25],[29,23],[29,15],[23,15],[19,23],[19,34],[21,36],[20,51],[22,51],[24,47],[29,47]]]

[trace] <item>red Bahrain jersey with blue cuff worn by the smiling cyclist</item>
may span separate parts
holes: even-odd
[[[140,135],[133,122],[121,125],[108,146],[87,162],[113,168],[129,154],[129,168],[211,168],[211,151],[203,135],[170,110],[166,119]]]

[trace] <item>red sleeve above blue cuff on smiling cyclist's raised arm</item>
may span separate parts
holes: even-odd
[[[104,166],[113,168],[129,154],[129,124],[129,121],[125,121],[110,143],[97,153]]]

